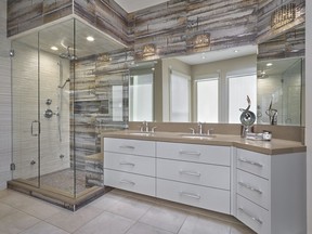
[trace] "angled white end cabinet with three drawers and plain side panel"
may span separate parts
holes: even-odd
[[[236,218],[259,234],[306,234],[306,153],[236,150]]]

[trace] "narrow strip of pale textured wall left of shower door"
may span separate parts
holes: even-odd
[[[0,191],[11,180],[11,62],[5,22],[6,1],[0,1]]]

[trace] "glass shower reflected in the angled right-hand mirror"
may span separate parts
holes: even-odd
[[[301,125],[302,61],[258,62],[258,123]]]

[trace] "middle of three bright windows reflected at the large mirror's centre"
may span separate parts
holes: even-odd
[[[200,79],[196,84],[197,121],[218,122],[219,80],[218,78]]]

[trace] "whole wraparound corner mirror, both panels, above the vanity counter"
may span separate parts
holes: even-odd
[[[301,25],[259,44],[258,55],[247,46],[139,63],[130,68],[129,120],[239,123],[249,95],[257,123],[271,125],[276,109],[274,123],[302,126],[302,37]]]

